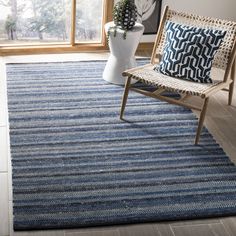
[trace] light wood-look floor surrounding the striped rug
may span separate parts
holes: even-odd
[[[139,55],[149,56],[150,54],[145,51],[140,52]],[[0,57],[0,236],[236,236],[236,216],[74,230],[30,231],[18,233],[13,231],[5,63],[72,61],[101,58],[107,58],[107,53]],[[194,102],[199,103],[198,100],[195,100]],[[226,92],[219,92],[217,96],[210,100],[205,125],[216,141],[223,147],[230,159],[236,163],[236,90],[232,106],[227,106]]]

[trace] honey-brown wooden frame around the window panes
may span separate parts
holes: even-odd
[[[112,20],[112,9],[114,0],[104,0],[103,19],[102,19],[102,42],[101,43],[76,43],[75,27],[76,27],[76,1],[72,0],[71,11],[71,38],[66,43],[43,43],[41,45],[30,44],[14,44],[0,46],[0,56],[6,55],[27,55],[27,54],[46,54],[46,53],[68,53],[68,52],[84,52],[84,51],[103,51],[107,49],[107,40],[104,32],[105,23]]]

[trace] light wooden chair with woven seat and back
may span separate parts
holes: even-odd
[[[218,49],[212,68],[223,70],[223,78],[221,80],[213,79],[213,83],[196,83],[187,80],[176,79],[157,73],[153,70],[155,64],[160,61],[165,42],[165,22],[170,20],[172,22],[184,23],[192,26],[202,28],[217,28],[226,30],[227,33],[224,40]],[[197,133],[195,137],[195,144],[198,144],[200,133],[203,127],[203,122],[207,110],[207,105],[210,96],[214,95],[219,90],[229,92],[228,104],[232,103],[234,79],[235,79],[235,56],[236,56],[236,22],[219,20],[209,17],[201,17],[192,14],[180,13],[170,10],[168,6],[165,8],[159,30],[156,36],[151,63],[145,66],[132,68],[123,72],[123,76],[128,76],[123,100],[121,104],[120,118],[123,119],[124,109],[126,106],[129,90],[141,93],[146,96],[167,101],[172,104],[185,106],[190,109],[200,111]],[[138,80],[144,84],[153,85],[157,89],[154,92],[135,88],[131,85],[131,79]],[[161,95],[164,91],[175,92],[180,94],[179,99],[173,99]],[[194,106],[186,101],[189,96],[198,96],[203,99],[201,107]]]

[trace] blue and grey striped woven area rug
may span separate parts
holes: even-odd
[[[185,108],[102,79],[105,61],[8,64],[14,229],[236,213],[236,167]],[[141,60],[139,63],[146,63]]]

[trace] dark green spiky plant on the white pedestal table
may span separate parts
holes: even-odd
[[[123,39],[126,39],[127,30],[131,30],[137,20],[137,7],[134,0],[120,0],[117,2],[113,8],[113,27],[108,30],[107,37],[109,39],[111,30],[114,32],[114,37],[116,36],[117,29],[122,29]]]

